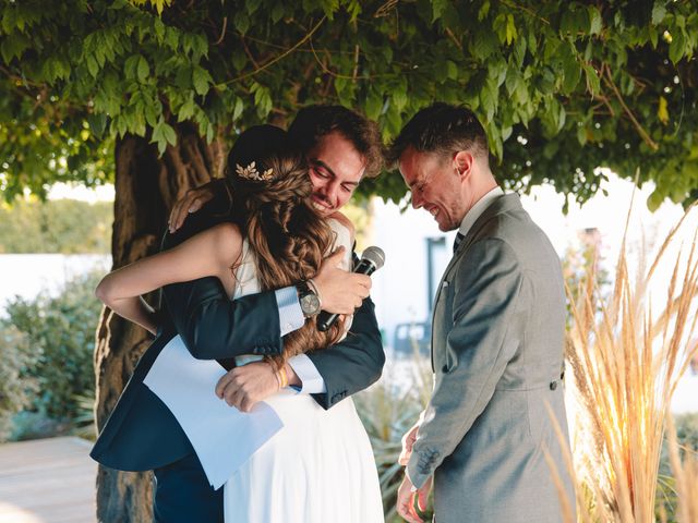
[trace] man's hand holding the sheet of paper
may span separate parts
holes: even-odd
[[[288,368],[288,365],[287,365]],[[216,396],[240,412],[250,412],[258,402],[279,390],[274,367],[253,362],[225,374],[216,385]]]

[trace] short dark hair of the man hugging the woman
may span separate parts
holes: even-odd
[[[339,132],[364,158],[364,175],[376,177],[383,169],[383,142],[375,122],[342,106],[314,105],[301,109],[289,134],[304,153],[323,137]]]

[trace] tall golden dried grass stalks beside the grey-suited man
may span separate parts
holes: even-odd
[[[694,352],[696,236],[690,245],[682,246],[676,259],[667,259],[666,254],[691,211],[670,231],[649,269],[643,270],[640,260],[635,280],[624,239],[611,296],[601,296],[592,264],[571,304],[566,355],[571,369],[567,384],[571,472],[579,521],[650,523],[655,519],[664,419]],[[664,311],[655,317],[648,289],[663,264],[673,264],[673,271]],[[569,289],[568,295],[573,300]],[[698,521],[695,464],[695,460],[684,464],[681,473],[682,522]]]

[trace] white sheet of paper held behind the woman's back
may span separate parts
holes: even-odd
[[[215,489],[284,426],[264,402],[243,413],[220,400],[215,387],[225,373],[215,361],[193,357],[176,336],[144,379],[174,414]]]

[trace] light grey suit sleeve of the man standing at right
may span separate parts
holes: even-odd
[[[497,239],[474,243],[456,269],[448,364],[436,368],[434,391],[407,465],[421,487],[453,453],[494,394],[516,351],[507,327],[517,312],[522,275],[512,248]]]

